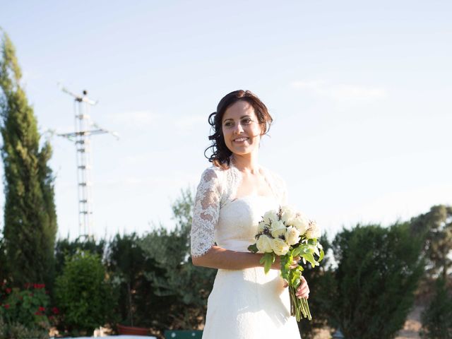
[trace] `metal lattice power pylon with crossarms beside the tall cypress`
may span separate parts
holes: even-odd
[[[91,143],[90,136],[96,134],[116,133],[100,129],[90,119],[90,107],[97,101],[88,98],[88,92],[76,95],[61,86],[63,92],[74,98],[74,125],[75,132],[61,133],[59,136],[68,138],[76,145],[77,183],[78,183],[78,235],[90,237],[93,228],[93,181],[91,179]],[[93,126],[96,129],[92,129]]]

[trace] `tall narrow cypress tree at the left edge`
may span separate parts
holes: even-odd
[[[6,33],[1,42],[0,131],[4,161],[4,251],[15,285],[51,283],[57,215],[52,148],[40,147],[33,109],[20,86],[16,51]]]

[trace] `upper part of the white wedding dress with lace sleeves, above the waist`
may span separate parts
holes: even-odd
[[[228,249],[246,251],[254,237],[255,230],[251,226],[257,227],[266,210],[285,205],[283,180],[262,167],[261,173],[273,196],[237,198],[242,173],[232,164],[228,169],[209,167],[203,172],[196,191],[191,225],[192,256],[206,254],[215,242]]]

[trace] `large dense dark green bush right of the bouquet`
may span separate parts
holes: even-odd
[[[422,238],[408,223],[367,225],[336,234],[328,299],[321,303],[329,324],[345,338],[393,338],[412,307],[423,273]]]

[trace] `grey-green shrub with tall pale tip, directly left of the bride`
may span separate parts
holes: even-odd
[[[172,205],[174,230],[157,227],[141,242],[158,270],[146,273],[154,287],[155,320],[160,330],[198,328],[204,323],[215,270],[194,266],[189,250],[193,195],[188,189]],[[170,315],[170,316],[168,316]]]

